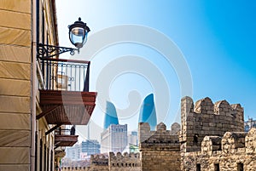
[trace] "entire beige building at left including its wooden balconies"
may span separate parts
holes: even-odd
[[[59,46],[54,0],[0,0],[0,21],[0,170],[59,170],[64,147],[78,141],[66,125],[89,122],[96,93],[60,87],[67,61],[38,58],[39,43]]]

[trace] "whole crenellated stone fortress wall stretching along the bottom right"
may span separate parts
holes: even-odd
[[[194,105],[191,98],[184,97],[181,127],[173,123],[171,130],[166,130],[166,125],[159,123],[151,131],[148,123],[139,123],[140,155],[92,156],[90,168],[73,170],[256,170],[256,128],[245,133],[243,115],[241,105],[226,100],[213,104],[205,98]]]

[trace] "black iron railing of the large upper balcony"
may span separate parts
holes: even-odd
[[[46,90],[89,91],[90,61],[41,58]]]

